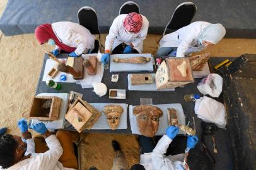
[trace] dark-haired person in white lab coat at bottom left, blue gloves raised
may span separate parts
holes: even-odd
[[[1,169],[67,170],[78,168],[76,160],[76,164],[69,168],[64,167],[63,164],[59,162],[61,157],[64,156],[65,150],[62,149],[62,145],[56,135],[49,132],[44,123],[37,123],[31,127],[35,132],[41,133],[44,136],[47,147],[49,148],[49,150],[40,154],[35,153],[35,142],[32,139],[31,133],[28,132],[26,120],[21,119],[18,122],[18,127],[20,128],[23,139],[15,135],[3,135],[0,139]],[[66,138],[64,142],[71,143],[72,145],[72,142],[70,142],[68,138]],[[62,159],[62,162],[67,164],[69,164],[69,161],[73,162],[72,159],[75,156],[72,157],[72,154],[74,155],[74,149],[73,153],[69,153],[69,157],[66,156],[68,159]]]

